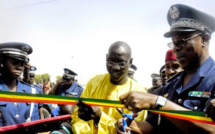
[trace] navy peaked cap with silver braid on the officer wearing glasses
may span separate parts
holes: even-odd
[[[193,7],[176,4],[172,5],[167,14],[171,29],[165,37],[172,37],[178,32],[202,31],[212,34],[215,30],[215,18]]]

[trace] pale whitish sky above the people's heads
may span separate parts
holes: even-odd
[[[48,73],[55,82],[69,68],[86,84],[107,73],[109,46],[124,41],[137,66],[135,79],[150,87],[171,42],[163,36],[170,29],[167,12],[179,3],[215,16],[213,0],[0,0],[0,43],[32,46],[36,74]],[[213,35],[209,49],[215,58]]]

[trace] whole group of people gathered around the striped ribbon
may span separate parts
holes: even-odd
[[[166,52],[160,74],[152,74],[152,88],[147,89],[134,79],[137,67],[132,64],[132,49],[126,42],[116,41],[106,55],[107,73],[95,75],[83,88],[75,81],[77,73],[64,68],[62,78],[46,94],[116,100],[126,108],[119,112],[113,107],[90,106],[81,100],[76,105],[58,105],[51,109],[52,117],[71,114],[71,120],[62,123],[60,130],[49,133],[215,133],[211,124],[147,111],[202,111],[215,120],[215,62],[209,54],[215,18],[176,4],[170,7],[167,20],[171,28],[164,36],[172,39],[173,46]],[[43,94],[42,88],[33,83],[36,67],[29,64],[28,58],[32,51],[26,43],[0,44],[0,91]],[[199,94],[190,95],[196,91]],[[210,96],[201,96],[202,93]],[[0,101],[0,126],[43,119],[43,110],[43,104]],[[122,117],[122,113],[131,114],[132,119]]]

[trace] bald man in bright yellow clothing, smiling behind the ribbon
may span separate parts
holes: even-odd
[[[81,97],[119,100],[119,96],[128,91],[146,90],[137,82],[128,77],[128,69],[132,64],[131,48],[122,41],[113,43],[108,50],[106,67],[108,73],[96,75],[91,78]],[[74,133],[92,134],[114,134],[115,123],[122,115],[115,109],[109,107],[92,107],[82,101],[77,103],[72,113],[72,130]],[[130,113],[124,109],[125,113]],[[146,111],[142,111],[139,120],[144,120]],[[79,117],[79,118],[78,118]]]

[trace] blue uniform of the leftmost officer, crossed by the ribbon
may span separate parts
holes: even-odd
[[[0,91],[8,91],[7,85],[0,79]],[[17,92],[31,93],[31,87],[18,81]],[[36,104],[35,104],[36,105]],[[14,125],[26,122],[30,115],[31,103],[0,101],[0,126]],[[35,120],[38,113],[32,113],[31,120]]]

